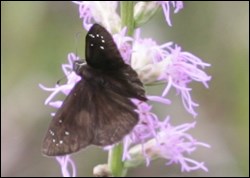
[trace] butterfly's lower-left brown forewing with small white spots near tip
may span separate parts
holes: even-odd
[[[84,81],[79,81],[52,119],[42,152],[47,156],[65,155],[90,144],[93,138],[92,104]]]

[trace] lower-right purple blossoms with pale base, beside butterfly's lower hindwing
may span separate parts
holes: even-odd
[[[182,171],[197,169],[208,171],[203,162],[197,162],[186,156],[195,151],[197,146],[210,147],[186,133],[195,127],[195,122],[174,127],[170,124],[169,117],[160,121],[157,115],[150,111],[152,106],[147,103],[137,104],[140,122],[123,140],[123,160],[127,167],[134,167],[144,160],[149,165],[151,160],[160,157],[168,160],[166,165],[180,164]]]

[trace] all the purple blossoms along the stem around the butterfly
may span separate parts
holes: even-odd
[[[200,58],[189,52],[182,51],[181,47],[173,42],[159,45],[152,38],[140,37],[140,28],[135,31],[134,37],[126,36],[126,28],[121,27],[121,19],[116,12],[118,2],[77,1],[74,3],[79,7],[80,18],[82,18],[83,27],[86,30],[92,26],[94,21],[101,23],[110,32],[115,32],[113,38],[124,61],[138,73],[144,84],[166,83],[166,87],[160,96],[147,96],[148,100],[169,105],[171,101],[165,97],[169,90],[174,88],[177,94],[180,94],[187,112],[194,117],[197,115],[194,107],[197,107],[198,104],[192,100],[190,95],[192,89],[188,87],[188,84],[192,81],[198,81],[208,87],[207,82],[210,81],[211,77],[203,69],[210,64],[204,63]],[[173,8],[174,13],[177,13],[183,8],[182,1],[150,2],[149,8],[145,8],[147,2],[138,3],[145,3],[144,9],[149,9],[149,11],[154,7],[162,7],[169,26],[172,25],[170,10]],[[135,9],[135,11],[140,13],[142,10]],[[147,14],[145,11],[144,13]],[[66,84],[56,85],[53,88],[47,88],[40,84],[43,90],[52,92],[45,101],[46,105],[49,104],[52,107],[59,108],[62,101],[54,101],[54,97],[59,93],[68,95],[80,80],[80,77],[72,72],[73,62],[78,59],[78,56],[70,53],[68,54],[68,64],[62,65],[62,70],[67,76]],[[187,133],[189,129],[195,127],[195,122],[173,126],[170,124],[169,116],[165,119],[159,119],[151,111],[152,106],[148,103],[139,102],[135,99],[133,99],[133,102],[138,106],[136,112],[139,114],[140,121],[122,141],[124,145],[123,161],[127,167],[133,167],[135,162],[140,161],[145,161],[146,165],[149,165],[153,159],[164,158],[167,160],[167,165],[180,164],[182,171],[197,169],[208,171],[203,162],[187,157],[196,150],[197,146],[210,147],[206,143],[196,141]],[[57,157],[57,161],[61,165],[63,176],[76,175],[75,164],[69,155]],[[69,171],[70,166],[72,171]]]

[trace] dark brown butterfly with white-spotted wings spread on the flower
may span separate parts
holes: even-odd
[[[146,101],[136,72],[124,63],[111,34],[94,24],[86,35],[86,61],[75,61],[81,77],[52,119],[42,145],[47,156],[70,154],[93,144],[119,142],[137,124],[131,101]]]

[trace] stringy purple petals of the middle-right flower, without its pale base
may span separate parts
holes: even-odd
[[[202,69],[210,66],[210,64],[202,62],[202,60],[189,52],[182,52],[181,47],[175,45],[168,47],[169,54],[165,56],[165,60],[169,61],[165,66],[159,80],[166,80],[168,82],[164,89],[162,96],[166,96],[171,87],[181,94],[182,103],[185,109],[194,117],[197,113],[193,107],[198,104],[191,99],[191,88],[187,85],[192,81],[201,82],[208,88],[207,82],[210,81],[211,76],[208,76]]]

